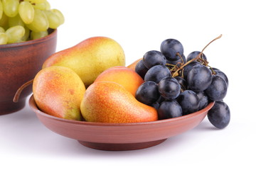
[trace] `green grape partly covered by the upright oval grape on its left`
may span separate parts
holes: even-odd
[[[43,11],[35,9],[35,16],[32,23],[26,25],[30,30],[40,32],[49,28],[47,16]]]

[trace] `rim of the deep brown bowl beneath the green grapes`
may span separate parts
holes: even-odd
[[[36,44],[40,42],[44,42],[48,39],[54,38],[57,35],[57,29],[49,29],[48,30],[49,35],[43,38],[38,38],[36,40],[28,40],[24,42],[17,42],[17,43],[11,43],[11,44],[6,44],[6,45],[0,45],[0,49],[4,48],[12,48],[12,47],[22,47],[26,45],[31,45],[31,44]]]

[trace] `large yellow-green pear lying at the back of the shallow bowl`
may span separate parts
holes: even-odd
[[[43,68],[69,67],[80,76],[85,86],[89,86],[105,69],[124,65],[124,50],[119,43],[111,38],[92,37],[51,55]]]

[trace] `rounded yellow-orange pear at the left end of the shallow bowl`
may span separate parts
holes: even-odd
[[[58,118],[81,120],[80,103],[85,84],[72,69],[47,67],[33,80],[33,97],[38,108]]]

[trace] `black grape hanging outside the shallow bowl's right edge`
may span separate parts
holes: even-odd
[[[216,128],[223,129],[230,123],[230,109],[223,101],[215,101],[213,108],[208,111],[208,120]]]

